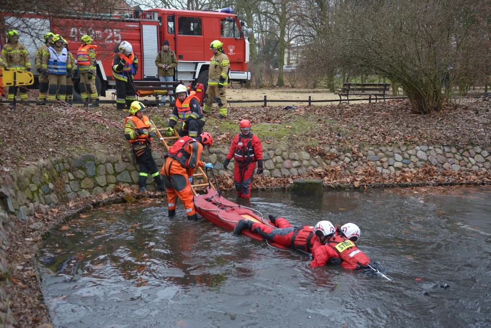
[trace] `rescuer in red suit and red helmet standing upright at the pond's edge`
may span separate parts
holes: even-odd
[[[256,170],[257,174],[263,173],[263,146],[261,140],[250,132],[250,121],[243,119],[239,123],[241,130],[238,133],[230,149],[227,158],[223,162],[223,168],[227,170],[232,157],[235,159],[234,184],[239,197],[250,198],[250,183]]]

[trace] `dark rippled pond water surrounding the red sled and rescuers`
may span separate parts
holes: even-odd
[[[115,205],[44,241],[43,292],[57,327],[487,327],[490,195],[479,187],[252,194],[251,207],[292,223],[355,222],[359,248],[393,282],[310,268],[301,254],[188,221],[182,204],[172,220],[165,202]]]

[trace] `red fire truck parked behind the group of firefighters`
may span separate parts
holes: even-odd
[[[114,14],[113,12],[118,12]],[[210,43],[219,39],[230,59],[230,80],[243,82],[250,79],[247,71],[249,42],[252,33],[244,21],[233,14],[231,8],[223,11],[192,11],[155,8],[147,11],[122,13],[114,10],[109,14],[62,15],[43,17],[24,13],[4,14],[3,31],[14,28],[19,31],[19,40],[29,52],[32,67],[35,53],[44,44],[43,35],[49,31],[59,33],[69,43],[70,51],[76,56],[84,34],[92,36],[97,45],[97,92],[105,96],[106,90],[114,89],[111,63],[114,49],[122,41],[133,45],[138,58],[135,80],[159,81],[155,58],[168,40],[170,49],[176,53],[178,67],[174,80],[185,83],[208,85],[208,67],[213,53]],[[2,38],[1,41],[4,41]],[[36,76],[37,72],[33,73]],[[74,81],[74,100],[80,100],[78,81]]]

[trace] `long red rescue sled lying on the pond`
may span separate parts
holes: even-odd
[[[245,219],[276,228],[270,220],[264,219],[259,211],[235,204],[210,187],[206,188],[206,191],[207,193],[204,195],[194,196],[194,209],[213,224],[228,230],[234,230],[237,223]],[[242,234],[253,239],[263,240],[260,235],[252,233],[248,229],[244,229]],[[268,242],[268,244],[281,249],[287,248],[274,242]]]

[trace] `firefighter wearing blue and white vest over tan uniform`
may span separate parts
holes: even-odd
[[[41,72],[43,77],[50,79],[48,100],[65,101],[68,50],[63,47],[63,38],[59,34],[53,37],[53,45],[47,51],[43,55]]]

